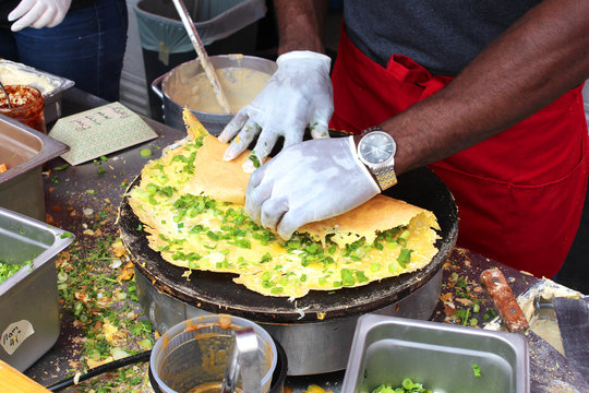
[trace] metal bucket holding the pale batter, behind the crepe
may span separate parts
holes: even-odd
[[[272,75],[277,68],[276,62],[254,56],[220,55],[211,56],[208,59],[215,69],[243,68]],[[152,90],[163,100],[164,122],[166,124],[178,130],[184,130],[183,107],[178,103],[176,96],[178,92],[189,88],[189,81],[203,72],[200,60],[195,59],[187,61],[154,80]],[[235,116],[235,114],[208,114],[192,108],[190,110],[213,135],[218,135]]]

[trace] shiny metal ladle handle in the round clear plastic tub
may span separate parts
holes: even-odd
[[[247,393],[262,393],[262,369],[257,336],[252,326],[233,331],[227,367],[223,378],[220,393],[233,393],[241,373],[241,386]]]

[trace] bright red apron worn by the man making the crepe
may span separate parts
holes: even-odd
[[[443,88],[405,56],[386,68],[370,60],[344,29],[333,71],[336,130],[359,132]],[[570,248],[587,189],[589,154],[581,87],[515,127],[432,168],[458,205],[458,246],[552,277]]]

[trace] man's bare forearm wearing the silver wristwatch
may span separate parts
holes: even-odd
[[[589,1],[545,0],[447,87],[382,124],[397,141],[397,170],[404,172],[470,147],[524,120],[587,78]]]

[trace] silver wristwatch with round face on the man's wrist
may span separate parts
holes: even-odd
[[[397,183],[396,151],[395,140],[382,128],[371,127],[362,131],[358,142],[358,157],[374,176],[382,191]]]

